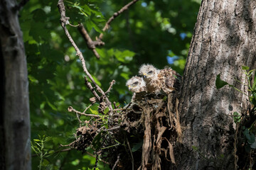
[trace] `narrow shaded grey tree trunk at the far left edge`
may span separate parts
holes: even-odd
[[[31,169],[28,73],[18,8],[0,1],[0,169]]]

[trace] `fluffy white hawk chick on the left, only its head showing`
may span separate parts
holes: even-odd
[[[142,77],[132,77],[127,81],[126,86],[129,88],[129,91],[134,93],[146,91],[146,83]]]

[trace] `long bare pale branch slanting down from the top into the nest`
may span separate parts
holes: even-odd
[[[100,92],[100,94],[102,94],[102,99],[105,101],[105,103],[107,104],[108,108],[110,108],[110,117],[112,117],[113,114],[113,108],[111,105],[110,100],[107,98],[105,92],[100,88],[100,86],[98,86],[95,82],[95,80],[92,78],[92,75],[88,72],[87,68],[86,68],[86,64],[85,64],[85,59],[82,56],[82,52],[79,50],[78,46],[75,44],[73,38],[71,37],[70,33],[68,32],[68,29],[65,27],[66,24],[69,23],[69,18],[65,16],[65,6],[64,6],[64,2],[63,0],[59,0],[58,1],[58,8],[60,11],[60,23],[61,26],[63,28],[63,30],[65,31],[65,34],[68,37],[68,40],[70,40],[71,44],[73,45],[73,47],[75,48],[75,51],[77,52],[76,55],[78,55],[80,61],[82,62],[82,69],[85,72],[85,74],[87,75],[87,77],[89,77],[89,79],[92,81],[92,84],[95,85],[96,90]],[[98,100],[98,95],[95,96]]]

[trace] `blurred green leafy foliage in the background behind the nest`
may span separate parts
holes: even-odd
[[[79,126],[76,115],[68,113],[68,106],[83,110],[90,105],[92,97],[84,85],[81,63],[60,27],[57,2],[28,1],[19,18],[28,62],[31,137],[32,141],[38,135],[51,137],[46,145],[55,152],[43,159],[44,165],[52,165],[53,169],[92,169],[95,158],[89,154],[73,150],[56,152],[62,149],[60,144],[75,139],[73,133]],[[84,23],[95,39],[102,33],[107,19],[128,2],[65,1],[66,15],[73,25]],[[87,49],[76,28],[68,26],[68,29],[97,84],[107,90],[110,81],[115,79],[117,83],[110,100],[124,106],[132,96],[124,86],[125,81],[137,74],[140,64],[148,62],[159,68],[169,65],[182,74],[199,4],[200,1],[184,0],[138,1],[129,11],[115,18],[111,28],[104,33],[105,46],[97,48],[100,60]],[[87,110],[87,113],[96,112],[96,104]],[[81,117],[81,120],[88,119]],[[139,143],[133,146],[133,150],[139,146]],[[40,160],[40,157],[33,157],[33,169],[37,169]],[[102,163],[98,167],[103,169]]]

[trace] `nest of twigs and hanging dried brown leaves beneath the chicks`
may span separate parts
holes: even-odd
[[[126,107],[115,106],[112,118],[101,109],[99,116],[77,129],[76,140],[65,146],[82,152],[91,147],[113,169],[161,169],[163,161],[175,164],[174,147],[182,140],[177,107],[175,93],[141,92]],[[111,125],[106,118],[113,120]]]

